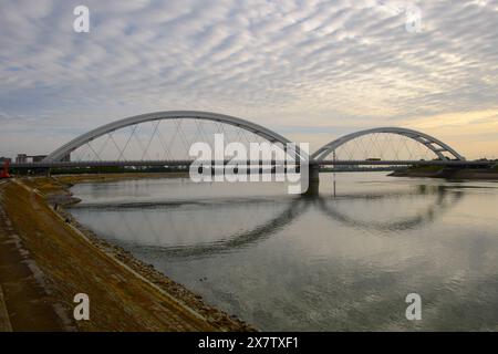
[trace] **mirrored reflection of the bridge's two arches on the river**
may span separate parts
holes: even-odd
[[[86,219],[84,217],[85,214],[87,217],[96,219],[112,216],[112,222],[104,222],[103,225],[107,226],[107,228],[101,230],[101,232],[108,236],[114,235],[117,241],[124,241],[128,243],[127,246],[142,244],[141,247],[144,250],[167,257],[210,257],[216,253],[237,251],[261,242],[290,223],[295,222],[308,212],[318,211],[334,222],[365,230],[402,231],[424,227],[438,216],[444,215],[447,209],[454,207],[463,196],[463,191],[455,191],[454,188],[445,185],[415,185],[408,190],[385,192],[370,190],[367,192],[346,191],[341,194],[336,190],[335,183],[335,179],[333,179],[334,188],[332,195],[284,196],[280,201],[276,201],[271,197],[228,197],[226,199],[216,198],[216,200],[211,201],[86,202],[73,207],[72,212],[84,220]],[[404,205],[404,208],[397,209],[400,215],[390,214],[387,219],[383,219],[385,216],[380,219],[372,219],[372,216],[378,212],[380,204],[396,202],[396,200]],[[422,206],[419,205],[421,200],[423,200]],[[411,209],[411,204],[417,206],[417,209],[406,215],[404,210]],[[353,208],[351,208],[352,205],[354,206]],[[360,215],[359,207],[363,209]],[[185,208],[201,214],[196,214],[195,217],[193,216],[193,219],[201,218],[206,225],[218,219],[219,226],[215,232],[218,236],[222,235],[222,237],[206,242],[205,236],[209,232],[209,228],[198,227],[194,233],[200,235],[200,237],[195,238],[196,242],[194,244],[168,244],[172,231],[185,232],[183,230],[185,229],[184,223],[191,225],[193,222],[175,216],[176,212],[186,212]],[[246,212],[248,208],[250,210],[266,210],[266,212],[256,217]],[[237,218],[238,221],[220,218],[219,215],[227,210],[230,210],[230,214],[237,214],[237,210],[240,210],[240,215],[249,217],[249,225],[247,220],[245,220],[246,223],[240,222],[240,215]],[[170,214],[167,222],[162,218],[157,219],[154,217],[154,215],[157,216],[157,212],[160,215],[162,211]],[[366,219],[362,219],[362,216],[366,217]],[[137,222],[137,220],[139,221]],[[89,223],[93,225],[94,221],[89,221]],[[230,223],[243,225],[243,227],[241,230],[237,227],[232,233],[227,235],[224,229],[229,230]],[[126,235],[127,237],[123,240],[116,233]],[[152,238],[144,239],[144,235],[149,235]],[[207,238],[209,239],[209,236]],[[164,242],[166,242],[166,246]]]

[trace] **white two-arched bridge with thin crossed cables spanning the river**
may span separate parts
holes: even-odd
[[[211,112],[167,111],[105,124],[62,145],[41,162],[17,162],[12,167],[187,166],[193,162],[189,146],[195,142],[212,144],[216,133],[229,136],[230,142],[278,145],[286,154],[300,156],[315,168],[487,164],[468,162],[442,140],[402,127],[378,127],[347,134],[308,155],[298,147],[286,149],[291,143],[288,138],[242,118]],[[110,149],[114,155],[108,154]]]

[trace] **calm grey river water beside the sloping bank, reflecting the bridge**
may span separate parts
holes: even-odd
[[[498,183],[322,174],[319,197],[286,190],[82,184],[71,212],[260,330],[498,330]]]

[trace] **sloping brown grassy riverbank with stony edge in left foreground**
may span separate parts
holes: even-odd
[[[68,189],[71,185],[123,178],[136,178],[136,175],[2,181],[0,285],[3,305],[0,303],[0,310],[6,309],[10,327],[13,331],[253,330],[209,306],[199,295],[124,249],[98,239],[64,210],[65,204],[75,201]],[[90,321],[73,320],[76,293],[90,296]],[[30,312],[35,308],[33,301],[39,306]]]

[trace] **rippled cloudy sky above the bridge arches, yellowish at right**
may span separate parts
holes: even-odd
[[[90,9],[90,32],[73,9]],[[407,13],[421,10],[419,31]],[[0,156],[200,110],[312,147],[403,126],[498,158],[498,0],[0,1]]]

